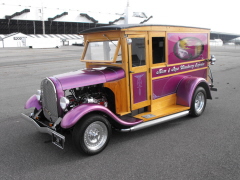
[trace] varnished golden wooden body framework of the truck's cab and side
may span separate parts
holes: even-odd
[[[102,31],[102,32],[95,32],[95,33],[89,33],[84,35],[85,38],[85,44],[86,42],[90,41],[97,41],[97,40],[106,40],[106,38],[103,36],[104,34],[107,35],[107,37],[111,40],[119,40],[120,46],[121,46],[121,53],[122,53],[122,63],[111,63],[111,62],[87,62],[86,67],[91,68],[94,66],[117,66],[124,69],[126,77],[122,80],[114,81],[114,82],[108,82],[105,83],[104,86],[108,87],[113,91],[115,94],[115,101],[116,101],[116,113],[118,115],[125,115],[130,113],[133,110],[137,110],[140,108],[147,107],[148,112],[139,114],[135,116],[136,118],[143,119],[144,121],[148,121],[154,118],[144,118],[143,115],[146,114],[154,114],[156,117],[166,116],[173,113],[181,112],[184,110],[189,109],[190,107],[184,107],[179,106],[176,104],[176,92],[166,95],[164,97],[160,97],[157,99],[154,99],[153,97],[153,81],[154,80],[160,80],[167,77],[173,77],[178,75],[189,75],[191,73],[196,74],[197,72],[202,72],[206,70],[206,75],[204,75],[205,79],[208,79],[208,70],[207,66],[198,68],[198,69],[189,69],[182,72],[175,72],[173,74],[165,74],[159,77],[154,77],[152,72],[154,69],[161,69],[166,67],[175,67],[178,65],[188,65],[189,63],[200,63],[205,62],[205,59],[201,60],[191,60],[181,62],[181,63],[175,63],[175,64],[169,64],[168,59],[168,40],[167,36],[168,33],[206,33],[208,35],[207,43],[209,44],[209,38],[210,38],[210,30],[209,29],[202,29],[202,28],[192,28],[192,27],[177,27],[177,26],[142,26],[142,27],[131,27],[131,28],[125,28],[125,29],[118,29],[118,30],[110,30],[110,31]],[[145,46],[146,46],[146,66],[139,66],[139,67],[132,67],[131,62],[131,49],[130,45],[127,44],[128,38],[139,38],[144,37],[145,38]],[[152,62],[153,54],[152,54],[152,37],[163,37],[165,38],[165,61],[162,63],[154,64]],[[210,49],[208,45],[208,59],[210,58]],[[83,57],[82,57],[83,59]],[[146,72],[147,73],[147,101],[139,102],[134,104],[133,102],[133,88],[132,88],[132,74],[134,73],[140,73],[140,72]],[[133,73],[132,73],[133,72]],[[206,76],[206,77],[205,77]]]

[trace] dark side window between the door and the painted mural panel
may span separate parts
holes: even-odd
[[[164,37],[152,37],[152,58],[153,64],[165,62]]]

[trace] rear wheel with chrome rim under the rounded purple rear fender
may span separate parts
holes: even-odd
[[[192,98],[190,115],[197,117],[203,113],[207,103],[206,97],[206,91],[203,87],[196,88]]]

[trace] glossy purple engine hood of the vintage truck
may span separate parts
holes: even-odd
[[[125,72],[119,67],[102,67],[84,69],[65,74],[55,75],[63,90],[115,81],[125,77]]]

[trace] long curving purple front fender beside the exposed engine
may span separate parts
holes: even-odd
[[[103,112],[112,118],[116,123],[121,124],[123,126],[134,126],[143,122],[141,119],[134,119],[131,122],[126,122],[117,117],[114,113],[112,113],[108,108],[99,105],[99,104],[82,104],[80,106],[74,107],[69,111],[61,121],[61,127],[64,129],[73,127],[83,116],[90,112]]]

